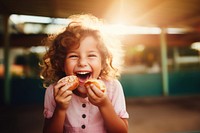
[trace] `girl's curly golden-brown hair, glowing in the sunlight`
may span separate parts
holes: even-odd
[[[102,31],[103,21],[91,14],[72,15],[71,22],[59,34],[50,35],[45,40],[48,47],[41,64],[41,78],[44,86],[57,82],[66,76],[64,63],[67,52],[71,48],[78,48],[81,39],[90,35],[98,43],[102,57],[102,71],[100,77],[105,80],[118,78],[123,64],[123,50],[120,41]]]

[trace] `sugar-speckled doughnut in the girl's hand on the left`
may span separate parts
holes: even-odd
[[[75,75],[70,75],[70,76],[61,78],[58,81],[58,83],[60,83],[60,82],[64,82],[64,83],[68,84],[69,85],[68,90],[71,90],[71,91],[75,90],[79,85],[79,80]]]

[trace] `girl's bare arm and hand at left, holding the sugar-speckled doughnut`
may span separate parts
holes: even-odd
[[[64,86],[64,83],[58,83],[54,86],[56,108],[53,116],[50,119],[45,119],[44,133],[63,133],[65,114],[72,94],[72,91],[68,90],[68,87],[67,85]]]

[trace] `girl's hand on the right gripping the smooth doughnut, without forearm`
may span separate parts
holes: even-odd
[[[95,84],[86,85],[88,91],[89,101],[100,107],[103,106],[107,100],[107,95],[105,92],[100,90]]]

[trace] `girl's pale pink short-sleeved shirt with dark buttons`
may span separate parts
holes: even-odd
[[[129,118],[122,86],[118,80],[105,81],[106,94],[110,98],[116,114],[121,118]],[[45,94],[44,117],[51,118],[56,103],[53,97],[53,86],[49,86]],[[66,111],[65,133],[106,133],[103,119],[97,106],[88,98],[72,94],[72,100]]]

